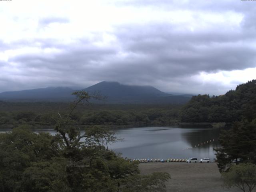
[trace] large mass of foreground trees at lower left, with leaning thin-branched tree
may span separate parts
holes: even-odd
[[[75,92],[67,114],[49,118],[56,135],[15,128],[0,134],[0,192],[148,192],[166,191],[167,173],[141,176],[138,163],[108,149],[118,138],[99,126],[81,127],[72,119],[75,108],[90,96]]]

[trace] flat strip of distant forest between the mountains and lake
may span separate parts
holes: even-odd
[[[0,103],[0,128],[14,128],[22,124],[34,128],[51,128],[53,116],[68,108],[66,103]],[[143,104],[85,104],[72,114],[80,125],[170,126],[179,122],[181,105]]]

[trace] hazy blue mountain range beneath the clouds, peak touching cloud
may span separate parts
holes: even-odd
[[[162,92],[152,86],[131,86],[123,85],[118,82],[100,82],[93,86],[83,89],[86,92],[100,92],[106,96],[100,103],[172,103],[182,104],[188,102],[191,97],[177,96]],[[0,93],[0,100],[8,101],[52,101],[66,102],[74,100],[71,95],[73,90],[67,87],[48,87],[32,90],[12,91]]]

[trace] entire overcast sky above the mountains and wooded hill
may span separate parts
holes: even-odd
[[[224,94],[256,78],[256,1],[0,1],[0,92],[101,81]]]

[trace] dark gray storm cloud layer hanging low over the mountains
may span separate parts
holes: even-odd
[[[159,2],[159,1],[158,1]],[[223,91],[216,84],[198,84],[188,78],[200,72],[243,70],[256,67],[255,7],[234,1],[147,1],[147,6],[165,9],[187,9],[211,12],[237,12],[243,20],[236,28],[215,24],[211,28],[190,30],[184,24],[150,22],[115,25],[111,35],[114,44],[98,46],[103,34],[96,38],[79,38],[64,44],[54,38],[20,40],[12,44],[0,41],[0,50],[10,47],[56,48],[58,52],[26,53],[11,56],[0,63],[0,92],[46,86],[86,87],[103,80],[125,84],[148,84],[162,90],[184,92]],[[126,2],[130,6],[143,6],[145,1]],[[124,6],[124,3],[117,4]],[[256,5],[256,4],[255,4]],[[67,18],[41,18],[39,25],[68,23]],[[200,25],[200,20],[197,20]],[[166,86],[164,86],[166,84]],[[167,86],[168,84],[168,86]],[[194,84],[197,84],[196,86]],[[196,90],[191,90],[190,88]],[[210,88],[209,88],[210,87]],[[221,90],[220,90],[221,89]]]

